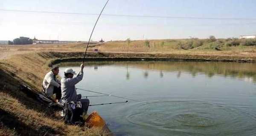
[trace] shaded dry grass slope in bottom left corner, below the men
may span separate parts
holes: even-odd
[[[107,136],[102,130],[65,125],[43,112],[23,105],[12,96],[0,92],[1,136]]]

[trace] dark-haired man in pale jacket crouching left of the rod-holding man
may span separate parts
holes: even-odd
[[[52,66],[51,71],[49,71],[43,80],[42,87],[44,92],[51,97],[56,94],[56,100],[60,102],[61,100],[61,82],[56,78],[59,73],[58,66]]]

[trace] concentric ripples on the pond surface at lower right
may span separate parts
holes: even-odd
[[[127,116],[136,125],[170,130],[176,133],[215,135],[253,135],[255,119],[240,110],[198,101],[154,101],[136,107]],[[241,124],[247,122],[246,124]]]

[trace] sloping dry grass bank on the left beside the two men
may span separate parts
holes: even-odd
[[[58,57],[70,57],[65,55]],[[40,91],[49,62],[58,57],[54,53],[41,52],[18,54],[0,61],[0,135],[95,136],[102,133],[65,125],[55,111],[19,91],[21,83]]]

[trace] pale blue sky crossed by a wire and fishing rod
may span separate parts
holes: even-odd
[[[42,40],[87,41],[97,15],[17,12],[48,11],[99,14],[106,0],[0,0],[0,40],[36,36]],[[238,37],[256,34],[256,0],[110,0],[93,40],[145,40]],[[139,16],[251,18],[251,20],[177,19]]]

